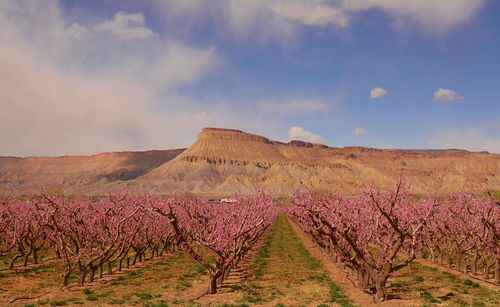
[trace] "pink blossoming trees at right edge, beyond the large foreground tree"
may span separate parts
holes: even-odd
[[[495,283],[500,284],[500,202],[491,194],[464,192],[436,202],[433,218],[421,234],[430,260],[464,273],[470,269],[472,274],[478,274],[481,264],[485,280],[493,268]]]

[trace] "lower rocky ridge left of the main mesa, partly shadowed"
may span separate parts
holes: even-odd
[[[184,149],[113,152],[92,156],[0,157],[0,193],[64,188],[92,192],[115,181],[127,181],[162,165]]]

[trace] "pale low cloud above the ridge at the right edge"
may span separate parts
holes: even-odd
[[[454,148],[500,153],[500,138],[486,136],[479,128],[448,130],[437,133],[427,143],[433,148]]]

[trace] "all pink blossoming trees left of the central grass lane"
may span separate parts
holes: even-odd
[[[95,273],[113,273],[142,261],[149,254],[181,248],[210,274],[215,293],[232,266],[249,250],[274,220],[277,212],[269,196],[237,196],[232,204],[204,199],[117,193],[98,201],[90,198],[30,197],[0,204],[0,256],[10,256],[10,268],[49,248],[61,264],[61,283],[79,272],[78,284],[92,282]],[[132,252],[133,251],[133,252]],[[207,260],[215,256],[215,263]],[[209,257],[209,258],[207,258]]]

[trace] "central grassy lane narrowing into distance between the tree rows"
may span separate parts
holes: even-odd
[[[269,229],[252,264],[253,276],[242,285],[241,302],[266,306],[352,306],[343,289],[330,280],[281,213]]]

